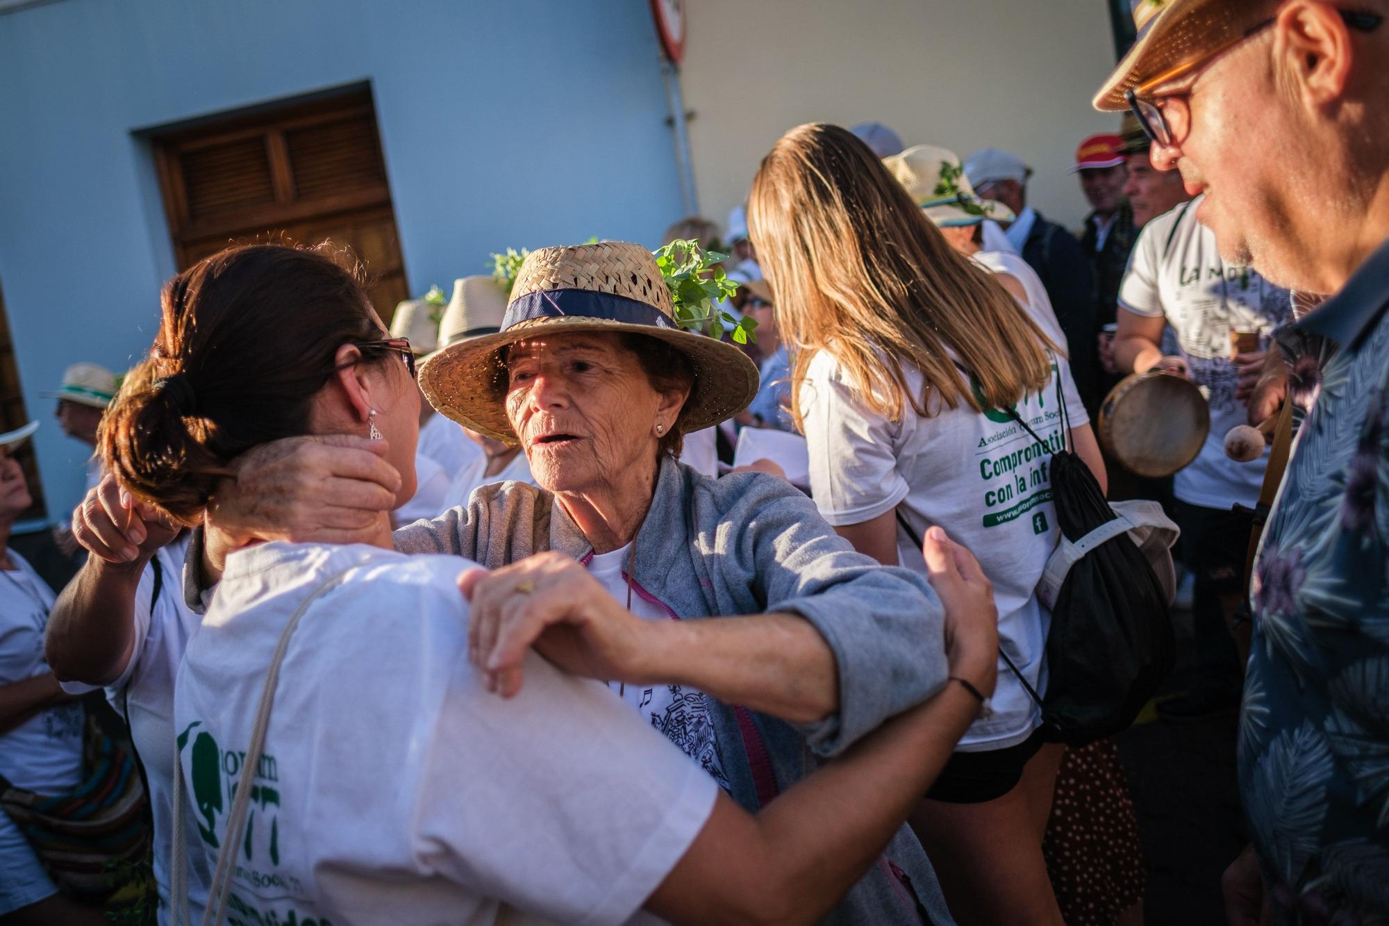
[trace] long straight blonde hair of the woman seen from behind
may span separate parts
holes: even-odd
[[[792,416],[820,350],[864,402],[892,420],[903,395],[921,416],[932,392],[947,407],[1007,409],[1051,377],[1051,345],[1013,296],[958,254],[868,146],[838,125],[786,132],[753,179],[747,227],[776,293],[776,327],[795,352]],[[983,403],[954,362],[978,381]],[[904,364],[925,388],[907,388]]]

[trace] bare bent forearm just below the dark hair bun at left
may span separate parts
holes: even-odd
[[[114,564],[88,556],[49,615],[44,658],[63,681],[104,685],[125,672],[135,649],[135,591],[149,563]]]

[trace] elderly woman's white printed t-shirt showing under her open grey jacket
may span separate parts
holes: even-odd
[[[632,545],[628,544],[607,553],[593,553],[588,560],[589,574],[624,606],[628,599],[625,570],[631,552]],[[642,620],[675,620],[671,612],[636,588],[632,590],[632,613]],[[653,730],[694,759],[718,787],[729,790],[728,779],[724,777],[724,756],[708,712],[708,695],[678,684],[629,685],[610,681],[608,688],[640,712],[642,720],[651,724]]]

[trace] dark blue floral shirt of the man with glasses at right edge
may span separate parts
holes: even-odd
[[[1297,323],[1239,780],[1278,922],[1389,916],[1389,242]]]

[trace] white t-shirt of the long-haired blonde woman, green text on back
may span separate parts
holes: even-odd
[[[906,374],[921,395],[921,373],[907,367]],[[825,520],[860,524],[900,506],[918,537],[939,526],[970,548],[993,583],[999,642],[1039,691],[1051,615],[1036,585],[1060,538],[1050,481],[1051,453],[1064,445],[1058,380],[1071,427],[1089,423],[1070,366],[1056,359],[1051,382],[1017,409],[1045,445],[1007,413],[981,414],[963,403],[922,417],[904,402],[903,420],[892,421],[864,402],[824,350],[811,359],[800,393],[810,491]],[[920,546],[900,524],[897,555],[903,566],[925,573]],[[1040,710],[1000,660],[993,716],[976,720],[958,748],[1003,749],[1039,724]]]

